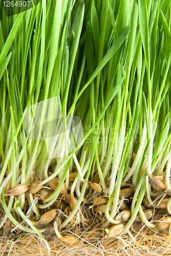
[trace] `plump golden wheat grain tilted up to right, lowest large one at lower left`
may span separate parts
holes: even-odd
[[[49,224],[56,216],[57,210],[49,210],[45,214],[43,214],[40,219],[37,220],[35,227],[36,228],[41,228]]]

